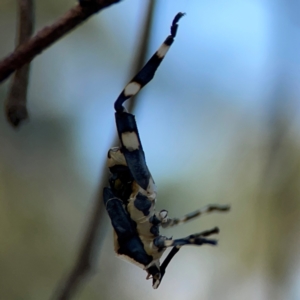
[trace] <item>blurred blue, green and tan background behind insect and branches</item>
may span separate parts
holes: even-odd
[[[0,107],[0,299],[49,299],[78,254],[132,75],[148,1],[103,10],[37,56],[30,121]],[[36,1],[36,28],[74,1]],[[178,35],[135,110],[157,209],[231,204],[163,234],[219,226],[218,247],[185,247],[158,290],[117,259],[105,215],[96,272],[73,299],[300,299],[300,2],[158,1],[150,57]],[[16,1],[0,2],[0,55],[15,45]],[[4,102],[9,82],[0,86]]]

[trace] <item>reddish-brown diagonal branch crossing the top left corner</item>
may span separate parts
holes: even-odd
[[[41,29],[30,40],[1,60],[0,82],[5,80],[15,70],[32,61],[36,55],[40,54],[43,50],[74,29],[77,25],[81,24],[91,15],[119,1],[120,0],[81,1],[81,5],[78,4],[70,9],[54,24]]]

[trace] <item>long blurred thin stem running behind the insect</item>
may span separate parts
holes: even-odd
[[[145,25],[142,33],[141,44],[139,47],[137,64],[134,67],[134,74],[143,67],[147,49],[149,47],[149,36],[152,27],[152,20],[155,10],[156,0],[149,0],[149,5],[147,8],[147,17],[145,20]],[[132,99],[130,104],[130,109],[135,107],[136,97]],[[113,105],[113,103],[112,103]],[[113,145],[118,144],[117,135],[113,139]],[[83,281],[86,279],[87,275],[91,272],[92,268],[97,265],[96,257],[99,256],[99,248],[101,247],[101,241],[103,241],[104,234],[107,229],[107,224],[104,222],[105,208],[103,205],[103,189],[108,184],[109,174],[106,164],[101,172],[102,179],[98,187],[97,196],[93,208],[93,213],[88,221],[87,230],[81,242],[80,251],[78,258],[70,271],[67,278],[60,285],[58,292],[54,295],[52,299],[56,300],[67,300],[75,294],[76,290],[79,288]]]

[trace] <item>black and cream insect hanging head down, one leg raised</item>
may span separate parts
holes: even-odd
[[[168,228],[185,223],[206,213],[229,210],[227,205],[208,205],[182,218],[169,218],[167,210],[155,211],[156,188],[147,167],[145,153],[139,137],[134,115],[126,112],[123,103],[136,95],[154,77],[154,74],[174,42],[178,21],[183,16],[178,13],[171,25],[171,34],[141,71],[126,85],[116,100],[115,120],[120,139],[120,147],[108,151],[107,164],[111,172],[110,187],[104,188],[103,199],[114,228],[114,247],[118,255],[140,266],[152,278],[156,289],[174,255],[185,245],[216,245],[208,236],[219,229],[172,239],[159,234],[159,228]],[[173,247],[162,264],[160,259],[167,247]]]

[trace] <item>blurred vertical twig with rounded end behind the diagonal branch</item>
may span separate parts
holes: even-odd
[[[32,35],[34,27],[33,0],[19,0],[18,46],[25,43]],[[10,91],[5,103],[7,120],[14,127],[28,118],[26,108],[27,87],[30,65],[26,64],[15,72]]]

